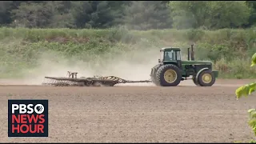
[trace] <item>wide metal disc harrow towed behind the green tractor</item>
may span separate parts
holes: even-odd
[[[115,76],[94,76],[77,78],[77,72],[67,72],[68,77],[45,77],[42,85],[48,86],[114,86],[118,83],[135,83],[135,82],[151,82],[144,81],[130,81]]]

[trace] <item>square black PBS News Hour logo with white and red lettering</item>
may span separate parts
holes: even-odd
[[[48,100],[8,100],[8,137],[48,137]]]

